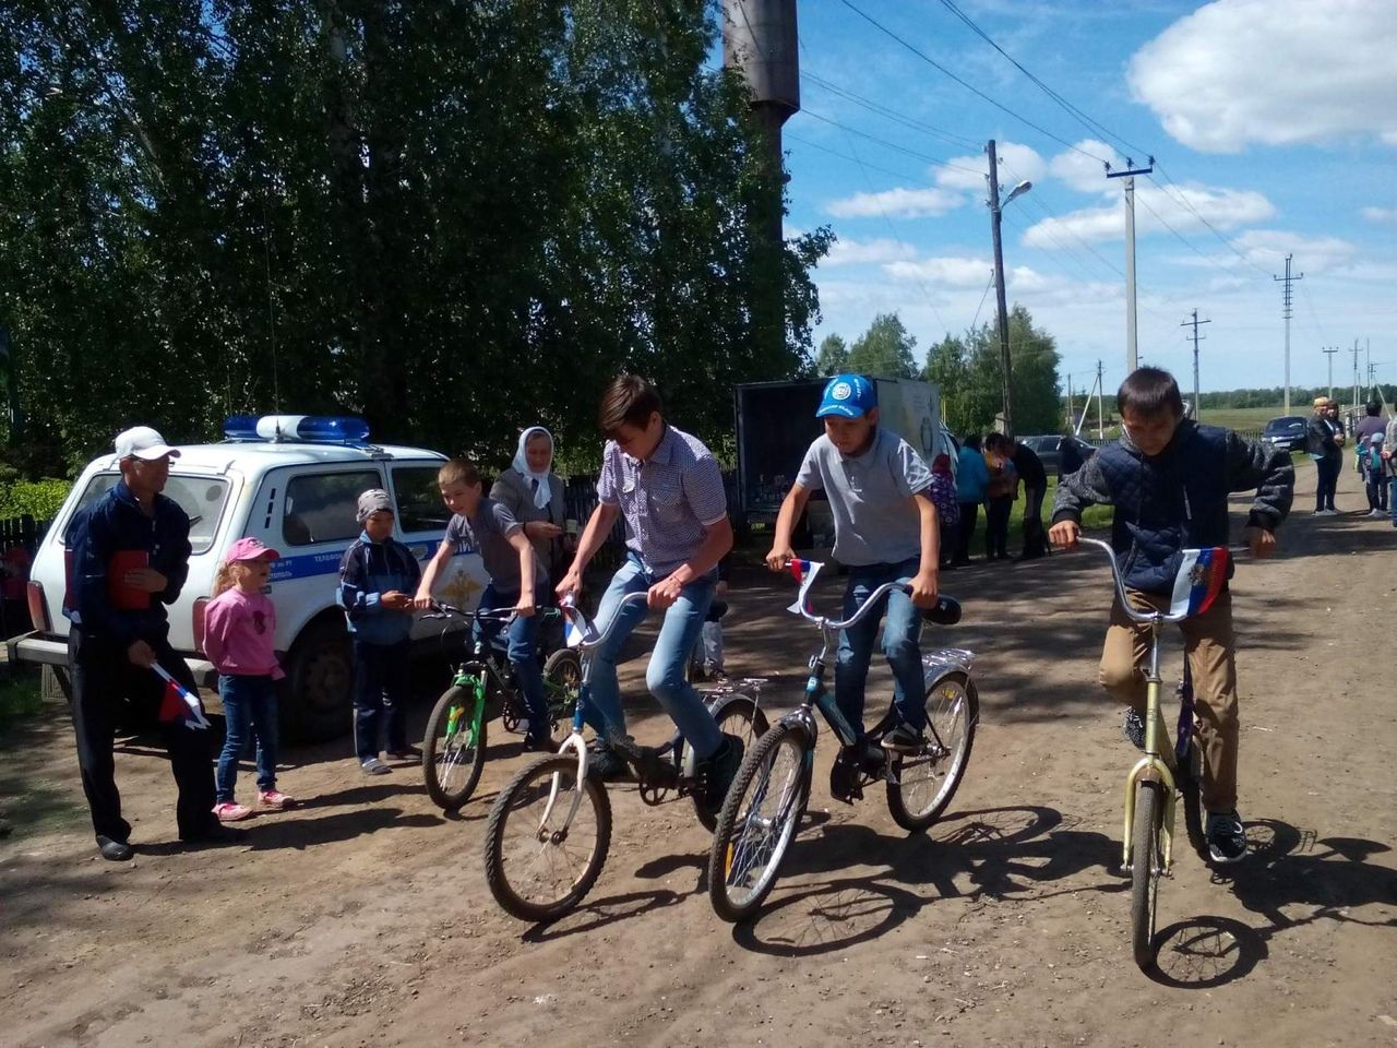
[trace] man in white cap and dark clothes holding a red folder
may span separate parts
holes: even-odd
[[[82,792],[92,812],[102,858],[131,858],[131,826],[122,817],[112,743],[117,704],[124,696],[138,724],[159,722],[179,787],[175,819],[182,841],[235,838],[214,816],[214,767],[208,736],[183,718],[159,720],[165,682],[159,665],[190,693],[194,676],[169,643],[166,606],[189,574],[189,517],[161,492],[170,458],[179,456],[149,426],[116,437],[122,479],[74,516],[67,530],[73,577],[63,613],[73,679],[73,729],[77,734]]]

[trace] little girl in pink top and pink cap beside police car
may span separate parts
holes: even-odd
[[[218,788],[214,815],[231,823],[253,813],[233,799],[237,759],[250,735],[257,738],[257,801],[279,810],[291,798],[277,789],[277,686],[285,676],[277,665],[272,640],[277,608],[263,592],[271,578],[271,562],[279,558],[256,538],[240,538],[228,551],[214,599],[204,612],[204,654],[218,669],[226,734],[214,776]]]

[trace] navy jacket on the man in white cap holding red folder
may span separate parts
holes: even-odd
[[[108,637],[130,647],[169,636],[166,605],[179,599],[189,577],[189,517],[179,503],[155,496],[155,514],[119,481],[116,488],[74,514],[66,535],[71,577],[63,613],[89,637]],[[151,606],[124,611],[108,597],[108,565],[124,551],[144,551],[148,565],[166,578],[163,592],[151,594]]]

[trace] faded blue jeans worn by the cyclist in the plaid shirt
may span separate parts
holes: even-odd
[[[597,608],[597,630],[606,630],[608,623],[616,616],[616,606],[623,597],[645,592],[661,578],[662,576],[647,572],[636,553],[629,553],[626,563],[612,576],[610,585],[602,594],[602,602]],[[718,731],[718,722],[708,713],[708,707],[703,704],[698,692],[685,679],[685,671],[689,664],[689,653],[694,650],[698,634],[703,632],[703,620],[708,615],[717,581],[717,570],[696,578],[679,592],[679,599],[665,609],[659,639],[655,641],[655,650],[650,655],[650,668],[645,671],[645,687],[659,700],[665,713],[679,728],[679,734],[693,746],[694,756],[700,759],[712,756],[722,743],[722,732]],[[645,619],[648,611],[644,604],[629,605],[620,612],[622,618],[616,632],[592,653],[591,701],[587,710],[587,722],[598,735],[605,735],[608,727],[626,731],[626,714],[620,707],[620,686],[616,683],[616,660],[626,639]]]

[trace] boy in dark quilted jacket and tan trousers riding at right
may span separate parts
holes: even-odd
[[[1183,549],[1228,545],[1231,492],[1256,490],[1242,528],[1252,556],[1268,556],[1275,549],[1275,528],[1289,513],[1295,488],[1288,453],[1245,440],[1231,429],[1186,419],[1179,384],[1158,367],[1140,367],[1127,376],[1116,394],[1116,409],[1120,439],[1065,476],[1058,488],[1048,532],[1053,545],[1076,545],[1087,506],[1113,506],[1111,545],[1120,560],[1130,601],[1139,608],[1161,609],[1169,606]],[[1179,630],[1200,721],[1208,852],[1214,862],[1236,862],[1246,855],[1246,834],[1236,812],[1236,637],[1231,591],[1224,588],[1207,611],[1180,622]],[[1119,605],[1112,608],[1099,679],[1116,699],[1130,704],[1136,717],[1146,708],[1140,662],[1148,648],[1148,633],[1147,626],[1129,619]],[[1127,734],[1137,741],[1130,727],[1127,714]]]

